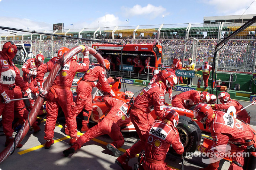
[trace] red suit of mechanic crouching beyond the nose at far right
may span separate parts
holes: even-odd
[[[214,110],[225,109],[225,112],[227,112],[227,110],[230,106],[234,106],[236,108],[236,112],[241,110],[242,108],[244,108],[238,101],[230,99],[230,101],[228,101],[224,104],[215,104]],[[236,118],[244,121],[245,123],[250,124],[251,117],[248,115],[248,113],[245,109],[242,110],[241,112],[238,112],[236,115]]]

